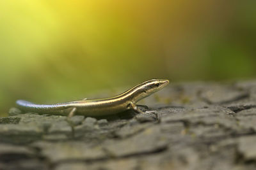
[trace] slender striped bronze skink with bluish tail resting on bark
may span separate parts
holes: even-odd
[[[52,115],[84,115],[104,116],[120,113],[126,110],[142,111],[136,106],[141,99],[150,96],[154,92],[168,85],[169,80],[152,79],[136,85],[130,90],[115,96],[104,99],[84,99],[81,101],[70,101],[57,104],[34,104],[28,101],[16,101],[17,107],[22,111],[33,113],[48,113]]]

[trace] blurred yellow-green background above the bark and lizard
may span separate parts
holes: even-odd
[[[256,1],[0,1],[0,116],[150,78],[256,73]]]

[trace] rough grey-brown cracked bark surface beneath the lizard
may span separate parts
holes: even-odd
[[[255,169],[256,81],[171,84],[111,117],[0,118],[0,169]]]

